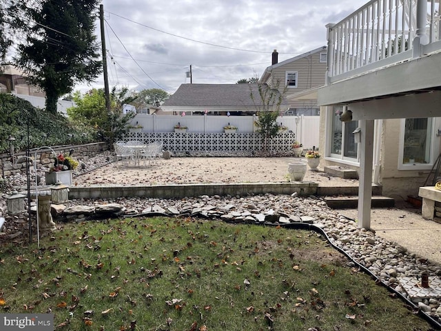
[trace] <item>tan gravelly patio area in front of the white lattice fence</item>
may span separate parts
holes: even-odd
[[[74,185],[165,183],[280,183],[289,181],[291,157],[172,157],[134,166],[121,161],[74,178]],[[319,168],[320,169],[320,168]],[[304,181],[325,185],[358,185],[357,180],[307,170]]]

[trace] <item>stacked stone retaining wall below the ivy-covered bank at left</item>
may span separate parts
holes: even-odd
[[[57,154],[65,153],[69,154],[70,150],[74,150],[72,157],[77,161],[85,162],[90,157],[96,156],[96,154],[102,154],[103,152],[109,150],[108,143],[86,143],[84,145],[64,145],[64,146],[50,146],[54,152]],[[32,148],[30,150],[30,159],[32,160],[32,166],[34,162],[37,163],[37,168],[48,167],[54,163],[52,159],[52,150],[47,147]],[[26,152],[14,153],[14,158],[12,162],[12,157],[10,153],[0,154],[0,170],[1,177],[10,176],[12,174],[25,173],[26,163],[30,159],[26,158]]]

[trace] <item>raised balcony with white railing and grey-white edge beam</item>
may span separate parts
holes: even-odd
[[[431,97],[440,97],[440,2],[373,0],[328,24],[328,70],[326,85],[318,91],[320,106],[433,91]],[[354,119],[362,118],[367,119]]]

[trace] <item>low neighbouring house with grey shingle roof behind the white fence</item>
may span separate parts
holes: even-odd
[[[180,114],[252,115],[262,109],[258,83],[182,84],[161,106],[164,112]],[[266,85],[260,84],[262,88]],[[271,104],[272,106],[272,104]],[[276,106],[276,105],[274,105]],[[286,100],[280,110],[287,110]]]

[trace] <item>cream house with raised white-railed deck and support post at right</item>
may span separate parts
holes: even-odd
[[[358,170],[362,228],[370,226],[371,183],[381,184],[384,195],[407,199],[425,183],[433,185],[441,162],[441,41],[433,33],[439,31],[439,13],[429,6],[433,1],[404,0],[391,8],[400,17],[379,12],[369,18],[387,3],[370,1],[327,25],[325,86],[287,97],[318,100],[321,165]],[[368,28],[356,26],[359,17],[368,17]],[[400,30],[388,30],[392,23]],[[400,40],[406,40],[404,47]],[[340,121],[348,110],[352,120]]]

